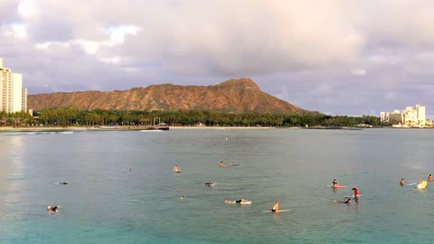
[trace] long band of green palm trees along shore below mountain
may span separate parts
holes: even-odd
[[[0,125],[32,124],[44,126],[131,126],[154,124],[154,118],[168,126],[208,127],[354,127],[369,125],[373,127],[390,126],[380,122],[380,117],[329,116],[324,114],[259,114],[224,113],[218,111],[143,111],[143,110],[80,110],[79,108],[45,108],[35,111],[34,117],[24,112],[7,114],[1,112]],[[157,121],[158,122],[158,121]]]

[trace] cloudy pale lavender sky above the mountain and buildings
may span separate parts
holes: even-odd
[[[432,0],[0,0],[30,94],[249,77],[330,115],[434,106]]]

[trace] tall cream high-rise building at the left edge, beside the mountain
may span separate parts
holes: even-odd
[[[24,88],[25,89],[25,88]],[[23,89],[23,75],[3,67],[0,58],[0,111],[27,111],[27,89]]]

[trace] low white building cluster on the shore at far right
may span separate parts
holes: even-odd
[[[393,112],[382,112],[380,119],[382,122],[392,123],[393,125],[403,125],[406,127],[424,127],[427,121],[425,106],[406,107],[404,110],[393,110]]]

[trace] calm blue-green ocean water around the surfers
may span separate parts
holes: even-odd
[[[432,243],[434,185],[399,186],[434,174],[432,145],[424,129],[1,133],[0,243]],[[358,204],[334,203],[352,187]]]

